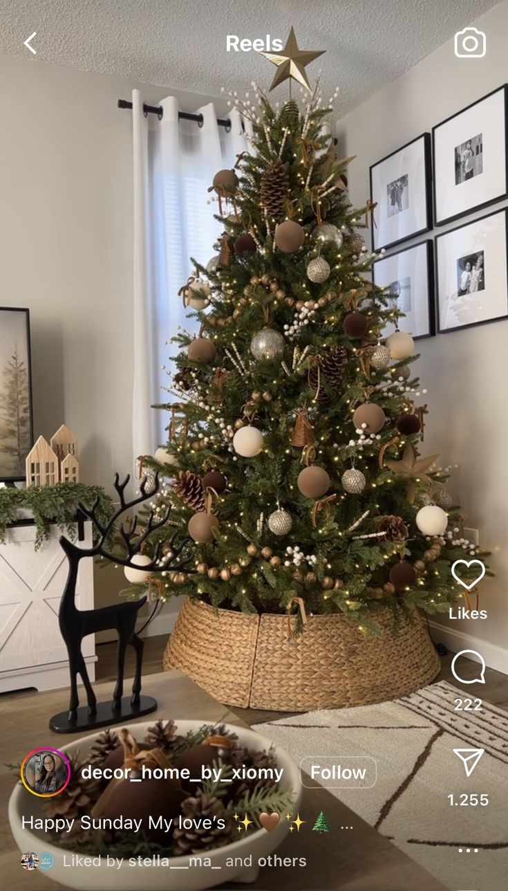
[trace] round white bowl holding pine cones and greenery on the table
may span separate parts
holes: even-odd
[[[152,723],[134,723],[125,726],[139,740],[145,736]],[[185,735],[189,731],[197,731],[206,722],[175,719],[175,723],[178,732]],[[237,727],[233,724],[226,724],[226,726],[228,730],[238,734],[239,742],[247,748],[268,751],[272,745],[268,737],[261,736],[245,727]],[[93,733],[91,736],[74,740],[67,746],[62,746],[61,751],[71,756],[78,749],[80,757],[84,758],[92,748],[96,737],[97,734]],[[278,767],[284,768],[280,788],[291,791],[292,809],[296,813],[302,799],[300,770],[293,758],[283,748],[275,746],[274,755]],[[9,801],[9,822],[16,844],[20,851],[52,854],[54,865],[47,873],[48,878],[65,887],[78,888],[80,891],[89,888],[93,888],[94,891],[99,891],[99,889],[140,891],[141,888],[147,887],[150,888],[150,891],[157,891],[157,889],[161,889],[161,891],[202,891],[204,888],[221,885],[222,882],[227,881],[254,882],[259,871],[259,858],[266,857],[275,851],[289,830],[289,822],[285,819],[281,819],[271,832],[266,830],[245,832],[242,830],[238,841],[216,848],[214,851],[206,851],[202,855],[203,858],[209,858],[209,866],[189,867],[189,856],[184,856],[170,857],[169,866],[157,864],[143,866],[137,863],[130,866],[127,858],[124,858],[124,862],[117,869],[117,864],[107,866],[105,857],[93,858],[96,865],[84,863],[71,865],[72,852],[53,845],[48,841],[43,831],[24,828],[21,822],[23,816],[25,818],[29,816],[44,817],[44,810],[42,799],[30,795],[19,782]],[[236,865],[226,865],[228,858],[232,858],[233,863],[236,859]],[[240,862],[240,858],[242,862]],[[214,866],[220,866],[221,869],[210,868]],[[181,869],[181,867],[188,868]]]

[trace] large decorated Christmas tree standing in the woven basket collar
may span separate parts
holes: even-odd
[[[370,281],[372,208],[348,200],[331,106],[319,87],[280,109],[232,95],[253,135],[214,176],[218,253],[182,289],[200,331],[174,339],[169,441],[147,459],[195,573],[154,593],[270,613],[299,597],[373,633],[381,609],[444,612],[477,551],[423,447],[414,342]]]

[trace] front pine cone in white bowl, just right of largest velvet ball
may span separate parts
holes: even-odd
[[[178,826],[173,829],[174,856],[198,854],[200,851],[228,845],[231,841],[230,818],[218,798],[209,798],[202,789],[198,789],[194,797],[186,798],[181,803],[181,812],[183,818],[187,817],[195,822],[190,830],[183,830]],[[199,820],[202,822],[197,826]],[[212,829],[203,829],[204,820],[212,821]],[[217,826],[218,820],[225,821],[223,829]]]

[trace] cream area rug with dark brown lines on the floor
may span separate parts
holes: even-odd
[[[464,695],[441,682],[393,702],[307,712],[255,730],[297,762],[375,758],[372,789],[330,792],[453,891],[505,891],[508,714],[485,702],[480,712],[456,711]],[[470,777],[454,748],[485,749]],[[462,793],[487,795],[489,803],[456,805]]]

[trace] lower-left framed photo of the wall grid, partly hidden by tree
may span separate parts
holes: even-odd
[[[386,296],[400,314],[401,326],[414,339],[435,334],[434,323],[434,264],[432,241],[422,241],[376,260],[373,266],[374,283],[388,289]],[[391,333],[383,331],[383,337]],[[390,330],[388,330],[390,329]]]

